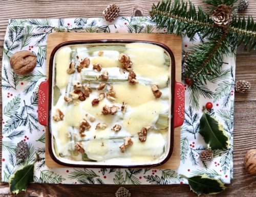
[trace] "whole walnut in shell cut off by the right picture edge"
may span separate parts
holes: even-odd
[[[256,174],[256,149],[250,149],[244,157],[245,170],[250,174]]]

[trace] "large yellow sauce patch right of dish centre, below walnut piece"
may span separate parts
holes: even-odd
[[[129,84],[129,82],[117,83],[114,85],[116,91],[116,102],[123,102],[130,106],[138,106],[148,101],[154,100],[151,86],[140,83]]]

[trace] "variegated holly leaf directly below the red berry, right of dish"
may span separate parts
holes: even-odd
[[[200,119],[199,133],[212,150],[226,150],[229,147],[229,138],[223,126],[208,114],[204,113]]]

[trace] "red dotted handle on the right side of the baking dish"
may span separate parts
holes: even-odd
[[[175,82],[174,94],[174,127],[179,127],[183,124],[185,109],[185,87],[182,83]]]

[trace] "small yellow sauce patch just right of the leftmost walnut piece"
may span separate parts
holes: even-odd
[[[79,128],[79,123],[82,120],[82,113],[79,105],[69,105],[65,115],[67,125]]]

